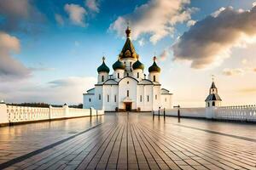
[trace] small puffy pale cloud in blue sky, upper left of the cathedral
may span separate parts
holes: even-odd
[[[86,10],[78,4],[66,4],[64,7],[69,16],[69,20],[76,26],[85,26],[84,16],[87,14]]]

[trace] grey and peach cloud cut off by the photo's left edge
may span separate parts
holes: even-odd
[[[20,41],[5,32],[0,32],[0,80],[9,81],[28,77],[31,71],[12,57],[20,52]]]

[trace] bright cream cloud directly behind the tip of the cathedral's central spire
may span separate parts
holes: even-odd
[[[189,0],[149,0],[148,3],[136,7],[131,14],[119,16],[109,27],[119,36],[124,35],[129,21],[134,39],[143,34],[150,35],[150,42],[156,43],[161,38],[171,35],[177,23],[190,20],[195,8],[186,8]]]

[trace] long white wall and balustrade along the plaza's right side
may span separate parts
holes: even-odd
[[[178,108],[171,110],[160,109],[160,116],[177,116]],[[256,105],[179,108],[180,116],[209,118],[227,121],[256,122]],[[154,111],[158,115],[159,111]]]

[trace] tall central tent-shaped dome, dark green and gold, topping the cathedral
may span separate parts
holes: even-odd
[[[125,33],[126,33],[126,42],[121,53],[119,54],[119,57],[120,59],[127,59],[127,58],[137,59],[137,53],[130,39],[131,29],[129,28],[129,26],[127,26]]]

